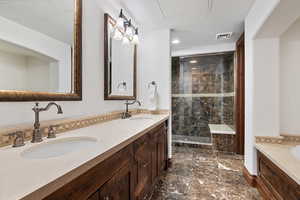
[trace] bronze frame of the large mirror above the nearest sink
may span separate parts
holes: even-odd
[[[74,0],[73,93],[9,91],[0,89],[0,101],[81,101],[82,100],[82,0]]]

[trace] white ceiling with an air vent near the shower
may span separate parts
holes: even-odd
[[[117,0],[146,30],[171,28],[181,41],[173,50],[235,42],[255,0]],[[219,32],[234,32],[231,40],[217,41]]]

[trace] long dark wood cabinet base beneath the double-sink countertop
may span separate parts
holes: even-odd
[[[142,200],[166,164],[164,122],[44,199]]]

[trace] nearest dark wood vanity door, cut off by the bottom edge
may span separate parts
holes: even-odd
[[[130,165],[123,167],[99,191],[99,200],[132,200],[133,176]]]

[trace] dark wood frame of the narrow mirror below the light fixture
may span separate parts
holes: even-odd
[[[108,45],[109,45],[109,36],[108,36],[108,20],[113,20],[108,13],[104,14],[104,100],[136,100],[136,80],[137,80],[137,45],[134,45],[134,55],[133,55],[133,96],[122,96],[122,95],[110,95],[111,94],[111,66],[108,63]]]

